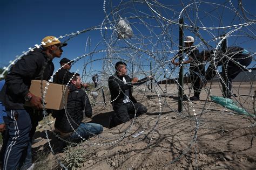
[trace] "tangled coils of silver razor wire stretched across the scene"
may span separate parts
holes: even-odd
[[[205,49],[214,51],[213,58],[210,61],[202,61],[194,64],[194,67],[198,67],[200,65],[206,66],[207,63],[210,62],[213,63],[214,67],[216,68],[215,72],[217,74],[217,78],[220,79],[220,82],[225,84],[224,78],[220,75],[220,70],[217,69],[218,66],[215,64],[215,62],[220,60],[222,57],[227,57],[225,55],[217,55],[217,50],[220,49],[224,39],[228,40],[228,46],[244,47],[244,44],[248,44],[249,42],[250,44],[255,44],[255,16],[251,15],[250,12],[247,11],[246,6],[243,6],[241,1],[238,1],[238,4],[235,4],[235,2],[237,1],[220,1],[220,3],[215,1],[166,1],[162,3],[147,0],[119,2],[104,0],[103,12],[105,13],[105,18],[103,18],[101,23],[99,23],[99,26],[65,34],[64,36],[59,36],[57,39],[65,39],[65,42],[68,42],[70,39],[75,40],[77,36],[81,36],[84,33],[86,35],[86,33],[90,31],[100,31],[99,36],[102,37],[102,40],[100,40],[95,47],[91,48],[92,40],[87,38],[85,42],[85,53],[81,54],[80,56],[73,56],[72,61],[75,61],[72,63],[73,67],[83,63],[82,67],[77,69],[76,73],[82,70],[82,80],[84,82],[90,82],[93,74],[97,73],[99,75],[99,81],[101,82],[100,86],[102,86],[102,88],[106,87],[105,89],[107,89],[108,77],[115,73],[114,65],[117,61],[124,61],[127,63],[127,68],[131,73],[131,77],[136,76],[142,78],[153,75],[154,80],[151,80],[149,83],[151,83],[153,86],[151,93],[155,93],[158,98],[159,115],[153,128],[149,131],[149,133],[145,134],[145,137],[149,136],[149,134],[153,134],[158,128],[157,125],[160,117],[162,116],[162,110],[165,107],[185,119],[193,120],[196,124],[196,128],[194,129],[194,137],[191,139],[191,143],[183,149],[181,154],[177,155],[175,159],[170,161],[170,164],[179,161],[180,158],[194,145],[196,168],[198,168],[197,133],[200,130],[199,120],[203,113],[207,112],[207,110],[211,108],[211,102],[207,101],[207,99],[211,95],[212,83],[210,84],[210,88],[204,87],[202,89],[202,91],[206,91],[207,98],[204,102],[203,109],[201,111],[196,110],[194,104],[189,98],[193,84],[191,83],[190,87],[183,88],[182,84],[179,84],[177,80],[178,70],[180,69],[181,65],[184,65],[184,61],[188,59],[187,54],[184,54],[185,59],[179,64],[179,66],[172,66],[170,61],[173,59],[173,56],[179,52],[178,28],[179,26],[183,26],[185,36],[193,36],[195,38],[194,44],[197,45],[194,45],[194,47],[197,47],[200,51]],[[241,11],[239,11],[239,9]],[[225,18],[225,14],[227,13],[230,13],[229,16],[232,16],[231,14],[233,14],[233,17]],[[185,19],[185,24],[179,23],[180,18]],[[118,25],[119,22],[125,22],[126,28],[131,28],[132,31],[130,30],[129,34],[126,35],[127,32],[120,30],[120,26]],[[226,34],[224,37],[221,37],[221,33],[223,32]],[[24,51],[21,55],[16,56],[14,61],[10,61],[8,67],[3,68],[3,73],[0,75],[0,77],[3,77],[5,72],[8,72],[8,70],[15,65],[15,62],[21,59],[24,55],[49,42],[41,42],[39,45],[36,44],[35,46],[30,47],[28,51]],[[93,50],[90,51],[91,49]],[[87,52],[88,50],[89,52]],[[253,62],[255,63],[254,48],[249,48],[248,50],[251,54],[249,57],[252,56]],[[102,55],[102,57],[99,57],[99,55]],[[240,107],[244,108],[245,110],[250,110],[250,108],[246,106],[245,102],[242,103],[242,101],[249,101],[250,98],[252,101],[254,101],[253,97],[255,96],[253,96],[253,83],[255,80],[250,78],[250,74],[253,74],[253,77],[255,77],[255,74],[251,69],[242,66],[232,57],[228,57],[228,62],[233,62],[240,68],[247,70],[247,72],[244,73],[246,78],[249,79],[251,86],[250,90],[248,90],[248,95],[246,97],[240,95],[238,89],[236,90],[236,93],[238,93],[239,98],[235,98],[234,94],[232,94],[232,96],[240,104]],[[102,67],[98,67],[99,65]],[[191,63],[191,65],[193,65],[193,63]],[[151,69],[150,66],[152,66]],[[187,65],[184,65],[184,67],[185,70],[188,70]],[[255,64],[253,67],[255,67]],[[60,67],[53,75],[55,75],[61,68],[62,67]],[[53,75],[51,76],[51,79],[48,80],[48,83],[46,83],[46,87],[44,89],[43,85],[41,87],[43,103],[45,102],[45,95],[47,93],[48,86],[53,79]],[[227,77],[227,75],[225,76]],[[203,83],[206,83],[204,75],[198,74],[198,77]],[[177,89],[172,89],[174,91],[173,94],[178,94],[178,87],[181,87],[184,90],[184,95],[188,96],[188,102],[183,101],[183,107],[185,108],[184,112],[180,113],[176,109],[170,107],[168,104],[166,98],[167,94],[170,94],[169,91],[167,91],[167,87],[169,87],[169,85],[166,83],[163,90],[158,84],[158,82],[161,82],[164,79],[165,81],[167,81],[167,79],[172,79],[174,82],[176,82]],[[145,87],[145,90],[141,90],[141,88],[134,88],[134,93],[143,93],[143,96],[145,96],[147,93],[147,84],[141,86]],[[225,84],[225,86],[228,88],[228,84]],[[189,89],[190,93],[187,94],[185,92],[186,89]],[[68,90],[68,84],[65,84],[64,91],[65,90]],[[109,94],[109,90],[106,91],[106,93]],[[125,94],[124,91],[119,88],[119,95],[121,93]],[[90,95],[88,96],[90,97]],[[143,97],[141,102],[143,103],[145,100],[146,97]],[[64,97],[62,102],[66,103]],[[104,108],[111,107],[109,97],[106,98],[106,102],[107,105]],[[99,103],[96,102],[95,104],[97,106]],[[43,104],[43,108],[45,126],[49,125],[51,131],[54,132],[58,139],[75,145],[75,143],[61,138],[51,128],[50,120],[45,109],[45,104]],[[185,114],[185,112],[189,113],[191,111],[193,112],[193,115]],[[69,118],[69,112],[66,110],[66,108],[65,114],[66,117]],[[136,117],[136,114],[137,111],[135,112],[134,117]],[[93,141],[97,138],[84,139],[82,136],[79,136],[76,129],[74,129],[72,126],[71,127],[73,131],[84,141],[84,145],[106,146],[115,145],[119,141],[122,141],[124,138],[128,137],[128,132],[131,131],[131,128],[135,123],[134,120],[135,119],[132,119],[128,128],[120,132],[117,137],[102,137],[100,134],[97,135],[97,138],[100,138],[102,143]],[[68,119],[68,121],[69,123],[71,121],[74,122],[72,119]],[[46,128],[45,133],[50,145],[50,150],[53,155],[56,155],[51,147]],[[150,146],[152,137],[149,139],[148,146]],[[61,163],[61,160],[57,155],[56,159],[60,166],[66,168]]]

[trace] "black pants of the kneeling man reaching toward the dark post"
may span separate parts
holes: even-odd
[[[147,108],[141,103],[122,103],[118,110],[114,111],[114,114],[110,117],[109,128],[113,128],[119,124],[130,121],[132,117],[145,114]]]

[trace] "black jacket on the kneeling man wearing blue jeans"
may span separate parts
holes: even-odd
[[[85,91],[77,88],[73,84],[70,84],[69,88],[70,93],[66,105],[68,112],[65,113],[64,109],[60,110],[58,114],[56,114],[55,121],[55,127],[63,133],[73,132],[73,129],[77,129],[79,124],[83,121],[83,111],[86,117],[92,116],[91,104]]]

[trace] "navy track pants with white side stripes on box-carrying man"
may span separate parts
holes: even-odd
[[[3,169],[27,169],[32,163],[30,136],[32,124],[26,110],[6,111],[6,150]]]

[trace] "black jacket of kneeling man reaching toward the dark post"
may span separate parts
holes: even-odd
[[[123,77],[125,77],[126,84],[123,82]],[[139,80],[134,85],[139,85],[145,83],[147,81],[147,77],[142,80]],[[129,98],[133,103],[137,103],[136,99],[132,96],[132,79],[131,77],[118,76],[114,74],[109,77],[109,89],[111,95],[111,104],[113,106],[113,110],[118,110],[123,103],[125,90],[129,89]]]

